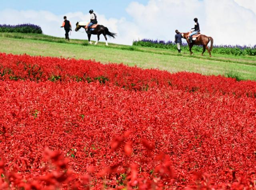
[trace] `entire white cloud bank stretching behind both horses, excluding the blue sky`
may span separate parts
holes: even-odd
[[[146,5],[131,2],[126,12],[132,16],[132,22],[126,18],[107,19],[96,13],[99,24],[117,33],[116,39],[108,38],[110,42],[131,45],[133,40],[142,38],[174,40],[174,31],[190,30],[197,17],[201,32],[212,36],[214,44],[256,44],[256,0],[149,0]],[[89,14],[82,12],[65,15],[73,29],[77,21],[89,19]],[[63,16],[48,11],[3,10],[0,11],[0,23],[37,24],[44,34],[64,37],[64,30],[60,28]],[[87,35],[72,32],[71,38],[87,39]],[[100,38],[104,41],[103,36]],[[96,40],[96,36],[92,40]]]

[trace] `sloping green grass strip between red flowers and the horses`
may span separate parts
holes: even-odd
[[[124,46],[99,43],[89,45],[87,40],[70,40],[42,34],[0,33],[0,52],[75,59],[95,59],[101,63],[124,63],[142,68],[158,68],[170,72],[189,71],[203,75],[224,75],[237,79],[256,80],[256,57],[200,53],[189,55],[168,49]]]

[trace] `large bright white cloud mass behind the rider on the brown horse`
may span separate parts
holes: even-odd
[[[254,45],[256,0],[149,0],[132,2],[126,11],[140,27],[140,36],[173,40],[174,30],[188,31],[198,18],[201,32],[214,44]]]

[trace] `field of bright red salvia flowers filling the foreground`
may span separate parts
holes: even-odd
[[[256,189],[256,82],[0,53],[0,189]]]

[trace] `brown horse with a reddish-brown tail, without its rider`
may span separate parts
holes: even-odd
[[[211,51],[212,51],[212,48],[213,48],[213,38],[212,38],[212,37],[209,37],[209,36],[205,36],[205,35],[203,35],[203,34],[200,34],[199,36],[198,36],[198,35],[195,35],[195,36],[193,36],[193,37],[196,37],[196,36],[198,36],[198,37],[196,38],[196,40],[193,40],[193,42],[190,43],[190,42],[189,42],[189,35],[190,35],[190,34],[191,34],[191,32],[181,33],[182,37],[183,37],[184,39],[186,39],[187,42],[188,42],[190,55],[194,54],[194,53],[192,52],[192,50],[191,50],[194,45],[198,45],[198,46],[202,45],[202,46],[203,46],[202,56],[204,55],[205,49],[207,49],[208,52],[209,52],[210,57],[212,57]],[[209,49],[208,46],[207,46],[209,42],[211,42],[211,47],[210,47],[210,49]]]

